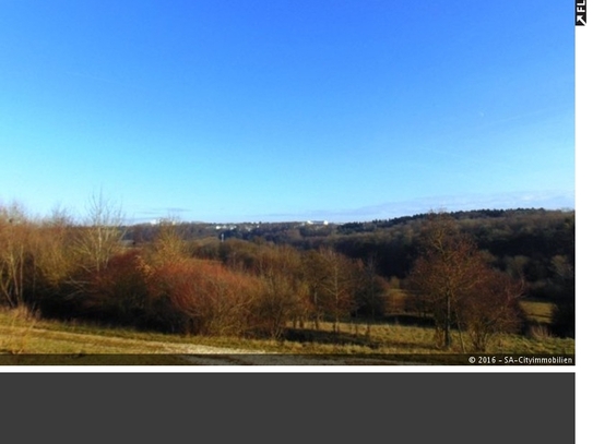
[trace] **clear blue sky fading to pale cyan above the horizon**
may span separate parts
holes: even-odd
[[[0,204],[132,221],[574,207],[570,1],[2,1]]]

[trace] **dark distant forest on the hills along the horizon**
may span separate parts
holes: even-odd
[[[497,268],[529,283],[527,297],[554,299],[560,291],[556,285],[559,275],[573,271],[574,211],[475,209],[447,215],[455,220],[461,232],[475,240],[478,249],[491,255]],[[177,223],[176,231],[187,241],[212,242],[216,239],[223,243],[241,240],[287,244],[300,251],[331,248],[351,259],[372,259],[379,275],[405,280],[418,255],[423,223],[429,216],[427,213],[327,225],[307,221]],[[153,224],[126,227],[124,239],[135,244],[151,242],[158,230],[158,225]]]

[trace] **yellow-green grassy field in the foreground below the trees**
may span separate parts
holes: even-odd
[[[549,307],[542,303],[529,303],[527,309],[529,315],[537,320],[544,320],[549,313]],[[188,353],[251,352],[343,356],[358,364],[366,363],[365,359],[370,362],[377,356],[405,355],[415,356],[417,362],[418,356],[435,360],[435,357],[444,359],[451,353],[469,352],[469,344],[470,338],[464,333],[453,332],[453,348],[444,352],[435,348],[431,327],[392,323],[372,324],[370,332],[366,324],[342,323],[337,333],[331,323],[321,323],[319,331],[307,324],[304,328],[288,328],[282,340],[262,340],[146,333],[46,321],[26,310],[0,311],[0,364],[102,364],[106,362],[102,358],[117,356],[117,363],[121,365],[181,365],[191,364],[183,359]],[[487,351],[573,355],[574,340],[553,337],[543,325],[529,337],[499,335]],[[60,360],[52,359],[56,356],[60,356]]]

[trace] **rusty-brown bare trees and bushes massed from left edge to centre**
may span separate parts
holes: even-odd
[[[121,217],[102,197],[83,224],[64,214],[31,220],[0,208],[0,304],[41,315],[204,335],[280,337],[287,323],[331,320],[371,309],[383,288],[361,261],[331,249],[237,239],[183,239],[162,221],[151,242],[124,242]]]

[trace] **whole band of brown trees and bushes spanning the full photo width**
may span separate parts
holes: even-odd
[[[518,301],[537,290],[543,275],[535,267],[533,280],[527,272],[541,254],[553,272],[545,281],[555,286],[558,333],[570,336],[573,214],[538,215],[529,224],[497,216],[499,225],[426,215],[368,232],[339,235],[333,226],[333,233],[308,237],[286,226],[288,240],[260,231],[224,242],[164,220],[134,244],[126,242],[134,227],[124,227],[102,195],[78,223],[60,211],[33,219],[13,204],[0,206],[0,304],[171,333],[280,338],[289,326],[319,328],[325,321],[339,333],[341,322],[359,319],[370,334],[395,285],[429,316],[438,347],[464,331],[469,348],[485,349],[497,333],[520,331]],[[547,242],[530,250],[530,236]],[[509,251],[503,242],[534,255],[500,254]]]

